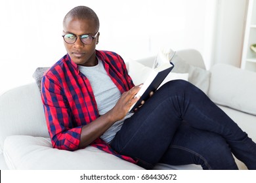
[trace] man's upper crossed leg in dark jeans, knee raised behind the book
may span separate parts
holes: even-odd
[[[256,144],[201,90],[182,80],[168,82],[154,93],[125,120],[111,146],[150,168],[160,161],[182,121],[221,135],[238,159],[256,169]]]

